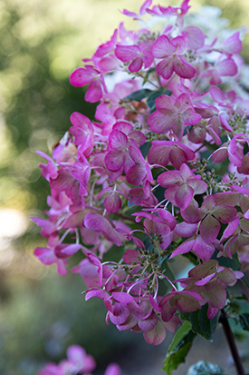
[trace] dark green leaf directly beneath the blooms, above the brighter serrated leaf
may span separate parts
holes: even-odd
[[[215,329],[218,323],[218,314],[213,319],[207,318],[208,304],[206,303],[200,310],[194,312],[183,312],[182,318],[190,321],[192,331],[204,337],[206,340],[212,341]]]

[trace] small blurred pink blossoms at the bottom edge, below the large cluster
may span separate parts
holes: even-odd
[[[72,345],[67,349],[67,359],[60,363],[47,363],[38,375],[91,375],[95,370],[96,362],[94,358],[87,354],[79,345]],[[120,366],[110,363],[104,375],[121,375]]]

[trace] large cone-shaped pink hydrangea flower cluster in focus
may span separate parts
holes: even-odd
[[[189,7],[147,0],[139,14],[124,10],[141,28],[120,24],[70,76],[88,85],[95,119],[72,113],[52,157],[38,152],[51,196],[47,218],[34,218],[47,239],[35,256],[65,275],[80,252],[72,272],[86,300],[103,300],[107,323],[154,345],[181,314],[207,306],[217,316],[249,270],[242,42],[239,32],[210,39]],[[170,271],[177,255],[192,262],[180,280]]]

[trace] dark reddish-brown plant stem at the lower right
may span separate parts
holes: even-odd
[[[242,360],[239,356],[239,352],[237,350],[236,344],[235,344],[235,336],[233,331],[231,330],[231,327],[229,325],[227,315],[224,310],[222,310],[221,316],[220,316],[220,322],[222,323],[223,326],[223,331],[225,333],[225,338],[228,342],[229,348],[231,350],[233,359],[235,361],[235,367],[237,370],[238,375],[246,375],[244,371],[244,367],[242,364]]]

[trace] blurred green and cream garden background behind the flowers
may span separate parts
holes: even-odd
[[[247,0],[193,0],[191,5],[197,9],[205,3],[221,7],[232,27],[248,25]],[[160,373],[167,342],[151,348],[141,335],[106,326],[101,301],[84,302],[79,275],[62,278],[34,258],[34,248],[45,242],[29,220],[43,216],[49,193],[35,150],[51,152],[73,111],[94,115],[95,105],[84,102],[69,74],[120,21],[132,25],[119,9],[138,11],[140,4],[0,0],[0,374],[36,374],[45,361],[61,360],[72,343],[95,356],[96,373],[111,360],[120,361],[124,373]],[[249,63],[248,38],[243,55]]]

